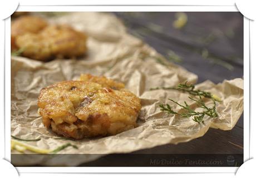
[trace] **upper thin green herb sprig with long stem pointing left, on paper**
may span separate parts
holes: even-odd
[[[186,81],[184,84],[178,84],[177,87],[156,87],[156,88],[150,88],[150,90],[159,90],[159,89],[179,90],[179,91],[182,91],[182,92],[189,93],[190,95],[199,96],[199,97],[203,96],[203,97],[211,98],[215,101],[221,102],[221,99],[218,96],[213,95],[210,92],[195,90],[195,85],[194,84],[187,84],[187,83],[188,82]]]

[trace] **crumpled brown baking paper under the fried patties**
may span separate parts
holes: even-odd
[[[188,142],[203,136],[209,127],[231,130],[243,112],[243,79],[237,78],[219,84],[205,81],[196,85],[196,88],[214,93],[223,100],[217,102],[218,118],[205,117],[204,123],[198,124],[192,118],[166,115],[160,111],[160,103],[169,103],[174,111],[180,110],[168,98],[180,103],[188,101],[189,105],[197,107],[186,93],[175,90],[150,91],[150,88],[175,87],[185,81],[196,83],[195,74],[166,61],[155,49],[127,34],[121,21],[110,13],[68,13],[52,17],[49,21],[70,24],[86,33],[87,55],[83,59],[55,59],[46,63],[12,57],[11,133],[19,138],[40,137],[40,141],[26,142],[40,148],[54,149],[67,142],[78,146],[78,149],[67,147],[59,153],[99,155],[75,159],[40,156],[37,160],[29,160],[29,155],[20,155],[19,160],[12,160],[17,165],[76,166],[109,153],[126,153],[167,143]],[[37,113],[37,97],[43,87],[77,79],[81,73],[104,75],[123,82],[127,89],[140,97],[142,108],[137,120],[138,127],[102,138],[77,141],[55,139],[58,136],[43,126],[42,118]],[[206,101],[206,105],[210,106],[211,101]]]

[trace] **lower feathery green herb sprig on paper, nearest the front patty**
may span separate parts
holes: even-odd
[[[168,105],[168,104],[166,104],[166,105],[161,104],[159,106],[161,108],[161,111],[165,111],[165,113],[168,114],[168,115],[180,115],[181,117],[191,117],[191,116],[193,116],[193,121],[195,121],[197,123],[201,123],[201,122],[204,123],[203,119],[204,119],[205,115],[209,116],[209,117],[212,117],[212,118],[218,117],[218,113],[216,112],[216,102],[215,102],[215,100],[212,99],[213,100],[213,107],[207,107],[205,105],[205,103],[202,101],[201,97],[200,97],[199,100],[196,100],[196,99],[191,98],[191,97],[189,97],[189,98],[190,98],[190,100],[195,101],[196,105],[200,108],[203,108],[204,111],[203,112],[195,111],[188,105],[188,103],[186,101],[184,101],[184,105],[181,105],[180,103],[178,103],[178,102],[176,102],[176,101],[174,101],[170,98],[168,100],[170,100],[170,101],[176,103],[176,105],[179,105],[180,107],[182,107],[184,112],[181,112],[181,113],[175,112],[175,111],[173,111],[171,106]]]

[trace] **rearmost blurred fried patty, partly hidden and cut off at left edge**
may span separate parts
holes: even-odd
[[[26,33],[37,33],[45,28],[48,23],[37,16],[21,16],[11,23],[11,47],[17,49],[16,38]]]

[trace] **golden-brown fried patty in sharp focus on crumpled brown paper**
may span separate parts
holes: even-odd
[[[43,124],[59,135],[115,135],[136,127],[140,99],[106,77],[82,74],[84,81],[63,81],[43,88],[38,98]]]

